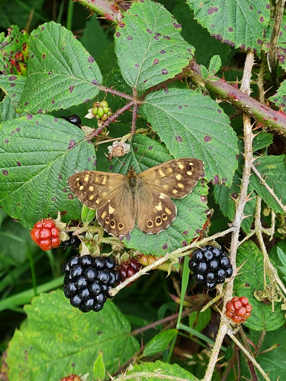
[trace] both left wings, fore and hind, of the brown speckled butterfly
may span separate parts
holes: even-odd
[[[115,237],[128,234],[135,226],[132,190],[127,177],[119,173],[84,171],[68,179],[71,191],[85,206],[97,209],[103,229]]]

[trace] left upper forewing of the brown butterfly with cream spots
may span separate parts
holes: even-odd
[[[86,207],[98,209],[117,193],[119,184],[127,184],[123,174],[84,171],[67,180],[69,188]]]

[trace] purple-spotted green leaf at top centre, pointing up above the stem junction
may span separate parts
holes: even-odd
[[[125,82],[142,93],[182,72],[193,58],[194,48],[180,31],[180,24],[161,4],[133,3],[114,35]]]

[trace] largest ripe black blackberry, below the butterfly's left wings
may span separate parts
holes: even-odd
[[[64,295],[82,312],[100,311],[109,290],[119,281],[111,258],[76,255],[63,265]]]

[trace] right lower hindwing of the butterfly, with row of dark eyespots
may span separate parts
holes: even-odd
[[[177,208],[169,196],[154,191],[144,182],[137,190],[137,227],[146,234],[157,234],[176,218]]]

